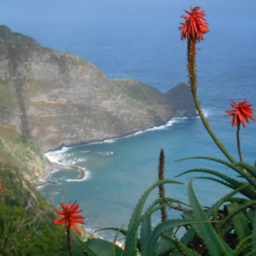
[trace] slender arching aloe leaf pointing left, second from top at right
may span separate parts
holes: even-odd
[[[225,182],[230,183],[231,186],[228,186],[228,187],[230,187],[231,189],[237,189],[237,188],[240,188],[241,186],[244,185],[244,183],[239,182],[239,181],[237,181],[236,179],[234,179],[232,177],[226,176],[221,172],[216,172],[216,171],[210,170],[210,169],[199,169],[199,168],[190,169],[186,172],[182,172],[181,174],[177,175],[176,177],[182,176],[182,175],[187,174],[189,172],[204,172],[204,173],[212,174],[216,177],[220,177]],[[253,199],[253,198],[256,197],[256,193],[254,192],[253,189],[250,189],[250,188],[247,188],[247,189],[245,188],[244,190],[241,191],[241,194],[247,196],[250,199]]]

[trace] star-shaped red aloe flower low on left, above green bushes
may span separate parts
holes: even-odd
[[[58,214],[63,215],[61,218],[57,218],[53,221],[54,224],[66,224],[66,228],[69,229],[71,226],[74,230],[76,230],[79,235],[81,235],[81,231],[79,230],[79,227],[75,223],[79,224],[85,224],[83,220],[83,216],[78,215],[77,213],[82,212],[82,210],[79,210],[79,204],[77,204],[77,201],[73,202],[71,204],[71,201],[68,202],[68,205],[61,203],[61,207],[63,211],[56,209],[56,212]]]

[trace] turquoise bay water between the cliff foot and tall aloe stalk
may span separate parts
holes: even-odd
[[[186,135],[186,136],[185,136]],[[201,142],[201,143],[200,143]],[[200,145],[200,146],[199,146]],[[201,160],[176,162],[183,157],[193,155],[221,156],[218,148],[212,147],[211,139],[201,128],[199,118],[175,119],[170,126],[143,131],[130,137],[108,140],[61,151],[49,153],[49,159],[61,160],[62,164],[72,163],[83,167],[86,177],[76,181],[76,172],[67,170],[55,172],[51,178],[58,185],[47,185],[42,193],[53,199],[55,205],[60,201],[79,201],[84,209],[86,228],[97,230],[101,227],[128,224],[132,209],[143,192],[157,180],[157,167],[160,149],[166,154],[166,177],[174,178],[177,174],[198,166],[209,168],[209,163]],[[232,172],[216,166],[216,169],[230,175]],[[181,201],[187,201],[186,183],[192,175],[179,177],[184,185],[169,184],[166,194]],[[209,206],[218,196],[229,190],[206,180],[195,181],[195,191],[203,205]],[[148,199],[148,203],[157,196],[157,190]],[[178,212],[169,211],[170,218]],[[154,224],[159,221],[154,215]],[[102,234],[102,236],[109,236]]]

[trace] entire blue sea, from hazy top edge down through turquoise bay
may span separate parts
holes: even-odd
[[[109,79],[139,79],[166,92],[180,82],[188,82],[186,42],[180,40],[177,26],[183,21],[183,10],[190,5],[206,10],[210,27],[197,51],[201,106],[213,131],[238,159],[236,128],[231,127],[231,119],[224,113],[230,109],[230,99],[247,99],[256,106],[255,1],[15,0],[3,3],[0,23],[45,47],[91,61]],[[241,129],[242,154],[250,163],[256,160],[255,131],[253,121]],[[76,181],[75,172],[55,172],[52,178],[59,184],[49,184],[41,191],[55,205],[78,201],[90,230],[120,227],[128,223],[143,191],[157,179],[161,148],[166,154],[168,178],[195,166],[235,175],[209,161],[176,162],[195,155],[224,156],[212,143],[201,119],[172,119],[166,126],[130,137],[51,153],[51,159],[83,167],[87,177]],[[193,175],[177,180],[187,183],[189,177]],[[207,180],[195,180],[194,187],[203,205],[228,191]],[[187,201],[186,193],[186,184],[166,186],[167,195],[182,201]],[[177,212],[169,211],[169,216],[175,218]],[[154,223],[158,219],[154,216]]]

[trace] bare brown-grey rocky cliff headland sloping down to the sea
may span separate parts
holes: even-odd
[[[162,94],[136,80],[108,80],[89,61],[0,26],[0,125],[15,127],[44,151],[195,116],[187,92],[188,85]]]

